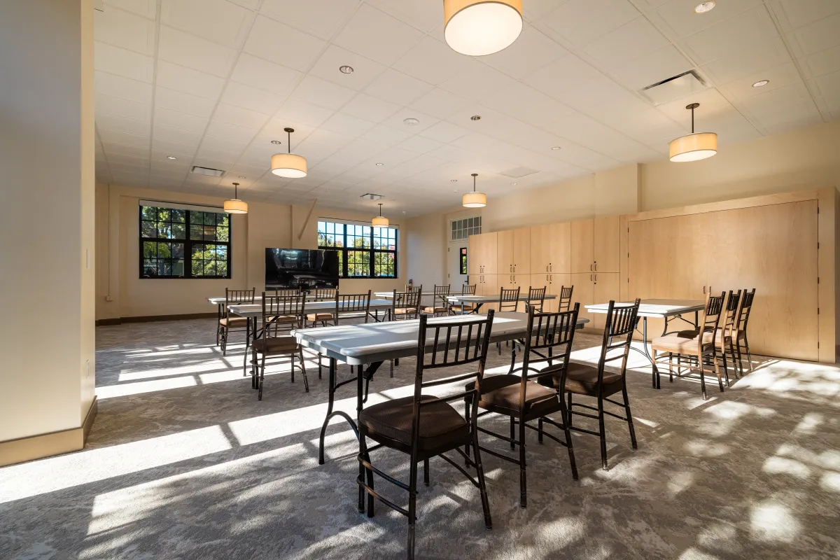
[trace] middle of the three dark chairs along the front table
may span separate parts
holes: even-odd
[[[572,311],[558,313],[536,313],[534,307],[528,307],[528,334],[521,342],[524,347],[522,366],[513,368],[511,373],[491,375],[481,384],[478,406],[484,411],[478,416],[487,414],[501,414],[510,416],[511,437],[491,432],[482,427],[476,427],[479,432],[490,434],[501,440],[510,442],[511,449],[519,446],[517,458],[508,457],[486,447],[481,451],[505,459],[519,465],[519,505],[528,505],[528,484],[525,463],[525,428],[531,428],[538,433],[538,442],[543,442],[543,436],[550,437],[555,442],[566,447],[569,451],[569,462],[572,478],[578,479],[575,465],[575,451],[572,448],[572,438],[569,432],[569,417],[564,400],[565,376],[569,366],[569,356],[572,342],[575,339],[575,327],[579,305],[575,303]],[[513,360],[516,354],[513,354]],[[517,375],[516,373],[519,372]],[[559,383],[552,386],[551,379],[556,376]],[[539,379],[546,379],[547,384],[541,385]],[[466,400],[466,411],[470,411],[471,395]],[[549,414],[560,413],[561,420],[549,418]],[[538,421],[535,427],[529,421]],[[543,423],[558,427],[564,432],[564,440],[543,431]],[[519,427],[518,437],[516,427]],[[469,447],[465,449],[469,455]]]

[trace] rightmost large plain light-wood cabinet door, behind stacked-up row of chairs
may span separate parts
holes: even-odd
[[[819,359],[816,200],[704,214],[712,293],[755,288],[750,352]]]

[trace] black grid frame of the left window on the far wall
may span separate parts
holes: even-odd
[[[169,211],[182,211],[184,212],[184,237],[183,238],[160,238],[160,230],[155,227],[155,237],[148,237],[144,236],[143,233],[143,224],[144,222],[150,222],[149,220],[144,220],[143,216],[143,208],[155,208],[155,211],[158,209],[164,209]],[[207,208],[207,210],[190,210],[188,208],[174,208],[168,206],[152,206],[152,205],[138,205],[138,238],[139,238],[139,262],[138,262],[138,276],[141,280],[230,280],[233,277],[233,270],[232,270],[232,262],[233,262],[233,240],[234,240],[234,224],[233,219],[230,214],[225,212],[221,212],[221,209],[218,210],[220,212],[215,212],[216,208]],[[197,214],[202,214],[201,223],[193,223],[193,220],[197,218]],[[155,212],[156,214],[156,212]],[[192,239],[191,235],[191,226],[209,226],[211,224],[207,224],[204,222],[203,215],[204,214],[213,214],[217,217],[214,217],[213,228],[218,228],[218,215],[221,214],[224,217],[227,217],[228,220],[228,240],[227,241],[218,241],[212,239]],[[159,221],[155,219],[155,224]],[[170,223],[181,223],[181,222],[170,222]],[[184,246],[184,254],[183,254],[183,261],[184,261],[184,274],[183,275],[146,275],[146,263],[147,260],[144,254],[144,243],[147,242],[154,242],[154,243],[183,243]],[[226,259],[224,262],[226,263],[225,275],[193,275],[192,273],[192,250],[194,247],[198,245],[216,245],[216,246],[223,246],[225,248],[225,255]],[[155,256],[155,259],[160,259],[159,256]],[[180,259],[172,259],[172,260],[180,260]],[[221,262],[223,259],[203,259],[207,261],[213,262]]]

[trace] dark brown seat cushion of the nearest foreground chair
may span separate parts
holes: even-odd
[[[423,395],[420,400],[433,400],[437,397]],[[412,444],[412,416],[414,397],[387,400],[378,405],[369,406],[359,413],[359,423],[370,432],[369,437],[386,437],[403,445]],[[449,403],[436,402],[420,407],[420,433],[418,448],[424,451],[452,445],[458,446],[470,437],[470,428],[463,416]]]

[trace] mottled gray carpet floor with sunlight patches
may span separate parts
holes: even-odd
[[[223,357],[213,343],[212,320],[97,328],[99,414],[88,446],[0,468],[0,558],[404,557],[404,517],[384,505],[373,519],[356,511],[357,443],[346,424],[330,427],[318,465],[326,372],[319,380],[307,362],[307,394],[277,365],[258,402],[242,377],[242,345]],[[599,344],[580,334],[574,359],[596,360]],[[508,360],[491,353],[490,373]],[[417,501],[417,556],[840,557],[840,369],[753,362],[704,401],[695,379],[666,376],[652,390],[635,357],[627,384],[638,450],[622,421],[607,420],[604,471],[597,437],[575,435],[574,481],[565,449],[529,432],[527,509],[516,465],[484,458],[492,531],[478,491],[433,459]],[[393,379],[381,369],[370,402],[408,395],[413,365],[403,360]],[[340,372],[349,375],[346,365]],[[339,391],[337,406],[354,416],[354,384]],[[373,461],[407,478],[401,453]],[[378,488],[407,503],[402,490]]]

